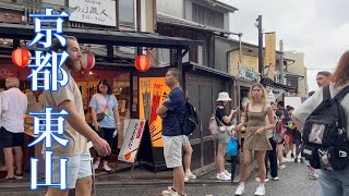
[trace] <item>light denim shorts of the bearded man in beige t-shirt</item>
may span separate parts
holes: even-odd
[[[59,182],[59,158],[52,157],[52,183]],[[65,157],[64,157],[65,158]],[[84,151],[81,156],[67,157],[67,187],[75,188],[76,181],[92,175],[92,158],[88,151]]]

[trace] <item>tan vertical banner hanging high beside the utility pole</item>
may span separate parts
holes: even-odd
[[[276,65],[276,37],[275,33],[265,34],[265,58],[264,65],[268,66],[264,70],[267,77],[274,81],[274,71]]]

